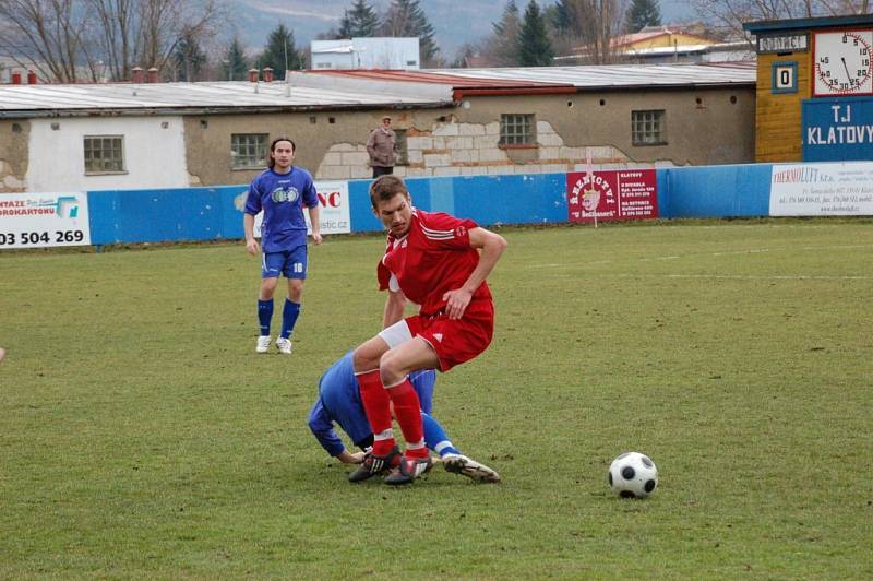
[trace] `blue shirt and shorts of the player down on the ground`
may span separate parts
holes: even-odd
[[[319,399],[309,413],[309,427],[328,454],[337,455],[345,447],[334,431],[334,422],[348,434],[356,446],[361,444],[372,435],[370,423],[361,403],[358,380],[348,352],[342,359],[333,364],[319,381]],[[418,392],[421,411],[430,413],[433,405],[433,387],[436,372],[422,369],[409,374],[409,380]]]

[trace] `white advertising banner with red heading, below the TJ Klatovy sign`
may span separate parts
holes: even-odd
[[[774,165],[772,216],[873,215],[873,163]]]

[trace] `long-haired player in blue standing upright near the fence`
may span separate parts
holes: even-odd
[[[288,298],[282,311],[282,332],[276,340],[279,353],[291,354],[291,331],[300,315],[303,281],[307,277],[307,222],[303,206],[312,223],[312,241],[321,244],[319,197],[312,176],[292,164],[295,144],[288,138],[278,138],[270,145],[270,168],[254,178],[249,186],[242,225],[246,249],[258,254],[254,239],[254,216],[263,210],[261,224],[261,294],[258,299],[258,321],[261,334],[255,351],[270,348],[270,323],[273,319],[273,294],[279,276],[288,278]]]

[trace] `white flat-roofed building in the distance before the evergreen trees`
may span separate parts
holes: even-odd
[[[421,68],[418,37],[312,40],[310,52],[312,69],[316,71],[324,69],[406,71]]]

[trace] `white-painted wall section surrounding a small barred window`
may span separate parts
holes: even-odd
[[[85,135],[123,135],[125,173],[86,176]],[[28,192],[189,186],[181,117],[32,119],[28,156]]]

